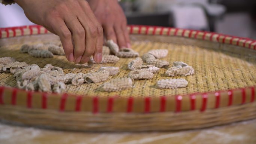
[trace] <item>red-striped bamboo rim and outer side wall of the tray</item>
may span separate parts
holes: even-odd
[[[225,45],[227,48],[222,48],[229,52],[248,50],[254,53],[256,50],[255,40],[204,31],[142,25],[130,25],[128,30],[138,37],[159,37],[159,41],[163,37],[174,37],[186,40],[186,44],[200,46],[207,42],[210,45]],[[0,40],[48,33],[39,25],[0,28]],[[171,42],[175,43],[175,39]],[[255,118],[255,88],[252,86],[157,98],[124,98],[48,94],[0,86],[0,119],[81,131],[204,128]]]

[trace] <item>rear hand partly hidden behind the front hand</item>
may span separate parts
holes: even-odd
[[[120,48],[130,48],[127,19],[117,0],[88,0],[107,40],[118,43]]]

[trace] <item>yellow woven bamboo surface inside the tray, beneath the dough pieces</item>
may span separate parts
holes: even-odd
[[[25,43],[25,41],[24,41]],[[34,43],[40,43],[40,40]],[[30,43],[30,44],[34,44]],[[19,53],[20,44],[13,44],[0,47],[0,57],[11,56],[18,61],[24,61],[28,64],[37,64],[43,67],[46,64],[52,64],[64,69],[64,73],[88,73],[97,71],[101,66],[120,67],[120,72],[116,76],[110,76],[108,81],[117,77],[128,76],[129,70],[127,64],[134,58],[121,58],[117,64],[95,64],[92,68],[78,68],[65,59],[65,56],[54,56],[54,58],[34,58],[28,54]],[[67,93],[89,96],[115,96],[121,97],[158,97],[162,95],[183,95],[196,92],[219,91],[226,89],[243,88],[256,85],[256,57],[241,57],[239,53],[223,52],[216,49],[205,49],[199,46],[181,45],[164,42],[151,42],[134,40],[132,48],[143,55],[151,49],[168,49],[169,53],[164,60],[170,62],[183,61],[195,69],[192,76],[183,77],[188,80],[186,88],[181,89],[158,89],[156,82],[167,77],[165,71],[161,70],[154,75],[151,80],[139,80],[133,83],[132,88],[121,92],[103,92],[102,83],[83,84],[80,86],[67,86]],[[16,81],[12,74],[0,73],[0,85],[16,86]]]

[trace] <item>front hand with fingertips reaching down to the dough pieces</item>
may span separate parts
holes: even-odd
[[[101,62],[103,28],[85,0],[15,0],[27,18],[60,36],[70,62]]]

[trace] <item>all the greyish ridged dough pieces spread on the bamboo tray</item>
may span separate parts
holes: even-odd
[[[60,43],[44,43],[37,45],[22,45],[21,52],[42,58],[51,58],[55,55],[64,55]],[[167,49],[150,50],[143,56],[138,57],[138,52],[129,48],[119,49],[113,40],[107,41],[107,46],[103,46],[103,58],[101,63],[116,63],[119,57],[137,57],[128,64],[128,77],[112,79],[102,85],[106,92],[121,91],[132,87],[133,80],[152,79],[155,73],[162,67],[169,66],[169,62],[161,60],[166,57]],[[95,63],[91,58],[88,67]],[[144,64],[145,63],[145,64]],[[79,64],[76,64],[79,65]],[[20,89],[41,92],[65,92],[67,84],[81,85],[83,83],[100,83],[106,81],[109,76],[116,75],[119,67],[101,67],[93,73],[67,73],[64,74],[62,68],[51,64],[40,68],[36,64],[28,65],[25,62],[18,62],[14,58],[0,58],[0,73],[12,73],[16,79],[17,87]],[[194,74],[194,69],[184,62],[173,62],[173,67],[166,71],[167,76],[188,76]],[[188,85],[185,79],[164,79],[157,82],[157,86],[162,89],[184,88]]]

